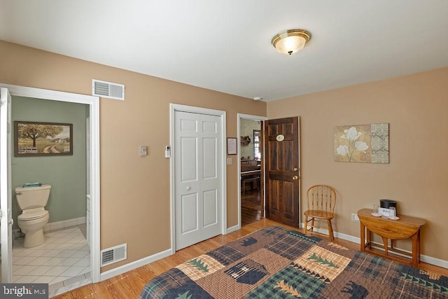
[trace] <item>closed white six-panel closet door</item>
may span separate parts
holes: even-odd
[[[221,117],[176,111],[176,250],[221,233]]]

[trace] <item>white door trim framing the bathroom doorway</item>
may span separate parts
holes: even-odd
[[[80,95],[71,92],[45,90],[41,88],[29,88],[20,85],[1,84],[0,87],[8,88],[11,96],[34,97],[38,99],[50,99],[59,102],[71,102],[89,105],[90,112],[90,196],[91,196],[91,221],[90,225],[92,242],[90,244],[90,277],[92,282],[100,281],[100,179],[99,179],[99,97],[92,95]],[[11,101],[12,102],[12,101]]]

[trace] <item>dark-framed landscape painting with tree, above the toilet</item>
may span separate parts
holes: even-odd
[[[15,121],[14,155],[73,155],[73,124]]]

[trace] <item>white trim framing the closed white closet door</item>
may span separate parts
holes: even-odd
[[[176,186],[175,186],[175,170],[174,169],[174,153],[176,150],[175,146],[175,136],[174,136],[174,120],[175,112],[190,112],[207,114],[211,116],[221,117],[221,234],[225,235],[227,233],[227,165],[225,163],[226,155],[226,112],[215,109],[207,109],[195,106],[186,106],[181,104],[169,104],[169,143],[171,144],[171,158],[169,161],[169,218],[170,218],[170,234],[171,234],[171,253],[176,252]]]

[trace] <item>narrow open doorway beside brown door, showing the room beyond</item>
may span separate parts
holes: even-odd
[[[238,114],[239,228],[265,217],[264,116]]]

